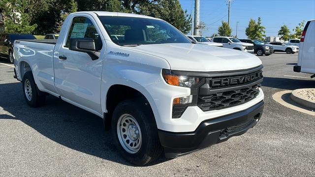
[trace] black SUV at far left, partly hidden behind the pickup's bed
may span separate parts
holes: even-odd
[[[17,39],[36,39],[32,34],[0,33],[0,56],[13,63],[13,42]]]

